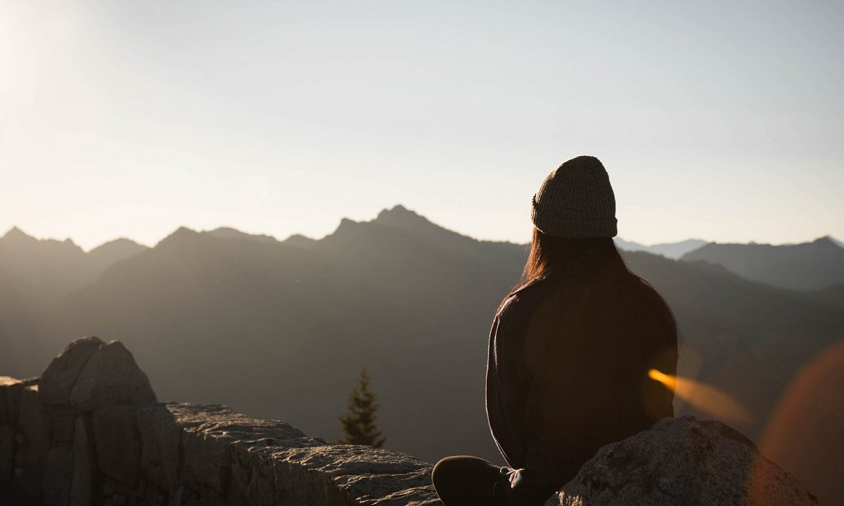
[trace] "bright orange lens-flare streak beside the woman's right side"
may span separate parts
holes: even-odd
[[[740,402],[713,386],[682,376],[664,374],[657,369],[649,370],[647,375],[674,390],[675,396],[724,422],[747,423],[753,419],[748,409]]]

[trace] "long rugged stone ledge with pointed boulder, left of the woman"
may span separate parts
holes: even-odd
[[[439,504],[430,464],[333,445],[226,406],[157,403],[120,342],[72,342],[41,379],[0,377],[0,483],[45,504]]]

